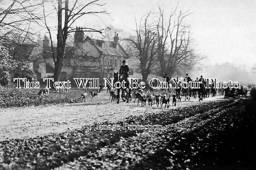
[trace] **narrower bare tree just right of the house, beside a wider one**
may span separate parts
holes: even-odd
[[[146,82],[147,76],[151,73],[156,64],[156,53],[158,52],[158,39],[153,22],[149,21],[150,13],[146,19],[136,22],[136,36],[125,39],[131,42],[130,56],[139,61],[136,71],[141,72],[142,81]],[[142,23],[143,22],[143,23]]]

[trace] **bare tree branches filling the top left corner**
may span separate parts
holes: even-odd
[[[40,18],[41,4],[41,0],[0,0],[0,43],[12,43],[17,33],[30,34],[31,22]]]

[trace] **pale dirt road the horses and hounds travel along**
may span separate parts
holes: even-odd
[[[92,99],[87,103],[1,109],[0,141],[61,133],[68,128],[89,126],[96,122],[116,122],[133,115],[175,108],[161,108],[156,105],[142,107],[134,102],[116,104],[110,103],[108,97],[107,94],[100,94],[98,101]],[[223,96],[206,98],[201,102],[217,99],[223,99]],[[176,107],[190,106],[197,102],[198,99],[182,101]]]

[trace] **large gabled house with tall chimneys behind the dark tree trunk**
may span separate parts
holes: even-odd
[[[122,64],[122,60],[128,55],[118,43],[118,33],[115,33],[113,41],[104,41],[84,37],[81,28],[77,28],[74,34],[73,47],[66,47],[60,80],[73,78],[96,77],[112,78]],[[56,57],[56,48],[53,53]],[[54,72],[54,62],[49,46],[49,39],[43,40],[43,56],[33,63],[34,71],[38,79],[49,77]]]

